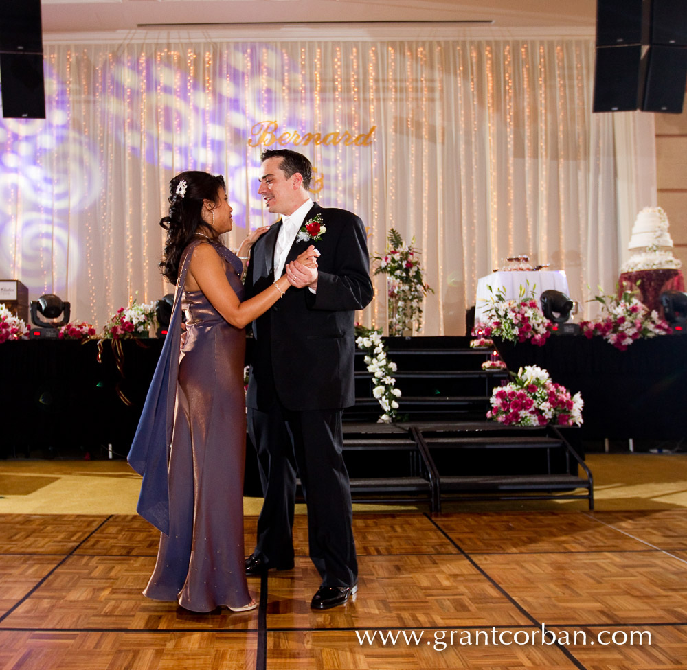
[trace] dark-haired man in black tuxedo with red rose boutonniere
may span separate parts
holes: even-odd
[[[290,288],[253,323],[248,431],[258,452],[264,503],[246,574],[293,567],[296,475],[308,509],[310,557],[322,577],[311,607],[346,603],[357,589],[343,408],[354,404],[354,312],[372,300],[363,222],[308,195],[310,161],[295,151],[262,154],[258,194],[281,215],[254,244],[246,297],[286,272]],[[311,244],[317,268],[297,261]]]

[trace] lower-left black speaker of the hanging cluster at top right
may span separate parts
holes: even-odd
[[[642,46],[598,47],[594,63],[594,112],[638,107]]]

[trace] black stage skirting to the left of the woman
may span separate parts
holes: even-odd
[[[122,373],[110,342],[27,340],[0,346],[3,455],[8,451],[128,453],[164,340],[122,342]],[[122,400],[122,394],[130,405]],[[95,455],[95,454],[94,454]]]

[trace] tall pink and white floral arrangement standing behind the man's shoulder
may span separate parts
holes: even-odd
[[[373,256],[379,262],[374,274],[387,275],[389,334],[410,335],[422,327],[423,298],[434,290],[425,282],[420,252],[412,244],[405,246],[393,228],[388,240],[386,253]]]

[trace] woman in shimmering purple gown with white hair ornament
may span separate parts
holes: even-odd
[[[174,308],[128,455],[144,476],[138,511],[161,531],[144,595],[194,612],[257,606],[244,573],[245,326],[289,289],[284,275],[247,301],[238,256],[218,240],[232,229],[221,176],[182,172],[170,182],[163,275]],[[316,266],[313,247],[299,257]],[[181,311],[185,313],[182,328]]]

